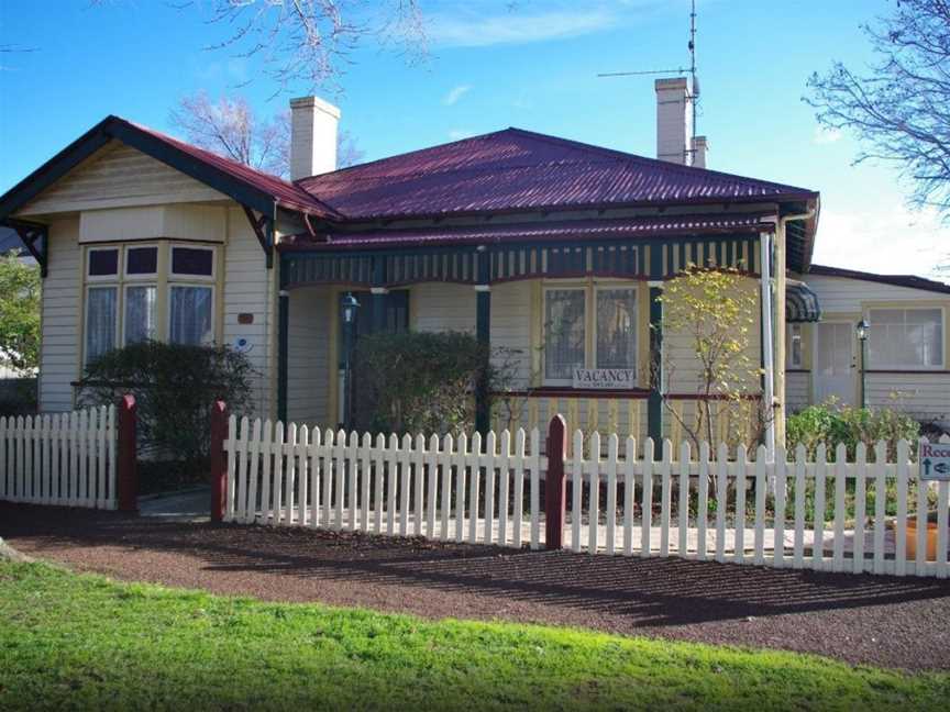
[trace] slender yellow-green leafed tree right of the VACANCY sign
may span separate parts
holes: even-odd
[[[662,329],[667,344],[663,371],[667,380],[673,379],[682,360],[674,354],[678,349],[669,345],[682,344],[692,352],[691,359],[695,357],[699,365],[695,419],[681,413],[665,389],[661,392],[664,407],[697,448],[703,441],[715,444],[720,427],[730,445],[748,443],[752,425],[763,425],[769,416],[759,405],[762,369],[753,359],[759,301],[747,281],[738,269],[689,265],[663,289]],[[653,379],[660,375],[659,366],[652,365]]]

